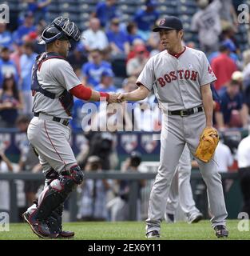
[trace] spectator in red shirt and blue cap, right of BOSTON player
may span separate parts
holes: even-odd
[[[220,46],[220,54],[212,59],[211,66],[216,75],[215,87],[220,90],[223,86],[228,86],[232,78],[232,73],[237,70],[236,63],[229,57],[231,52],[228,42],[224,42]]]

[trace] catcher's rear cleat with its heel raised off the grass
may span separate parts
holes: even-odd
[[[22,218],[30,225],[31,230],[34,234],[38,235],[39,238],[57,238],[58,234],[51,234],[50,228],[46,222],[40,222],[34,218],[34,213],[30,214],[27,211],[22,214]]]

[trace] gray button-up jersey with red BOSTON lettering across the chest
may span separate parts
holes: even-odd
[[[173,111],[202,105],[200,86],[215,80],[205,54],[186,47],[179,58],[167,50],[150,58],[137,84],[140,82],[149,90],[153,88],[158,101],[168,103]]]

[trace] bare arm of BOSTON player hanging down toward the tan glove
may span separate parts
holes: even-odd
[[[210,88],[210,84],[206,84],[200,87],[201,90],[201,98],[204,106],[204,114],[206,116],[206,126],[212,127],[212,91]]]

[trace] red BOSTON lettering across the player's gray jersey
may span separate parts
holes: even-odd
[[[198,72],[195,70],[177,70],[171,71],[169,74],[165,74],[161,78],[157,78],[157,81],[161,85],[161,87],[165,86],[167,83],[175,81],[177,79],[185,79],[185,80],[192,80],[197,81],[198,78]]]

